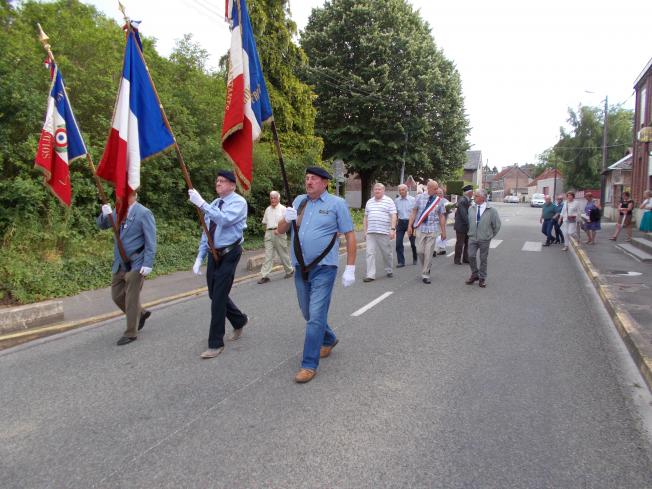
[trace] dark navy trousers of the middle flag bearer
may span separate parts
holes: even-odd
[[[206,268],[206,283],[208,297],[211,300],[211,327],[208,333],[208,348],[224,346],[224,324],[228,319],[235,329],[242,328],[247,322],[247,316],[238,309],[229,298],[235,268],[238,266],[242,248],[236,246],[224,255],[217,264],[212,254],[208,254]]]

